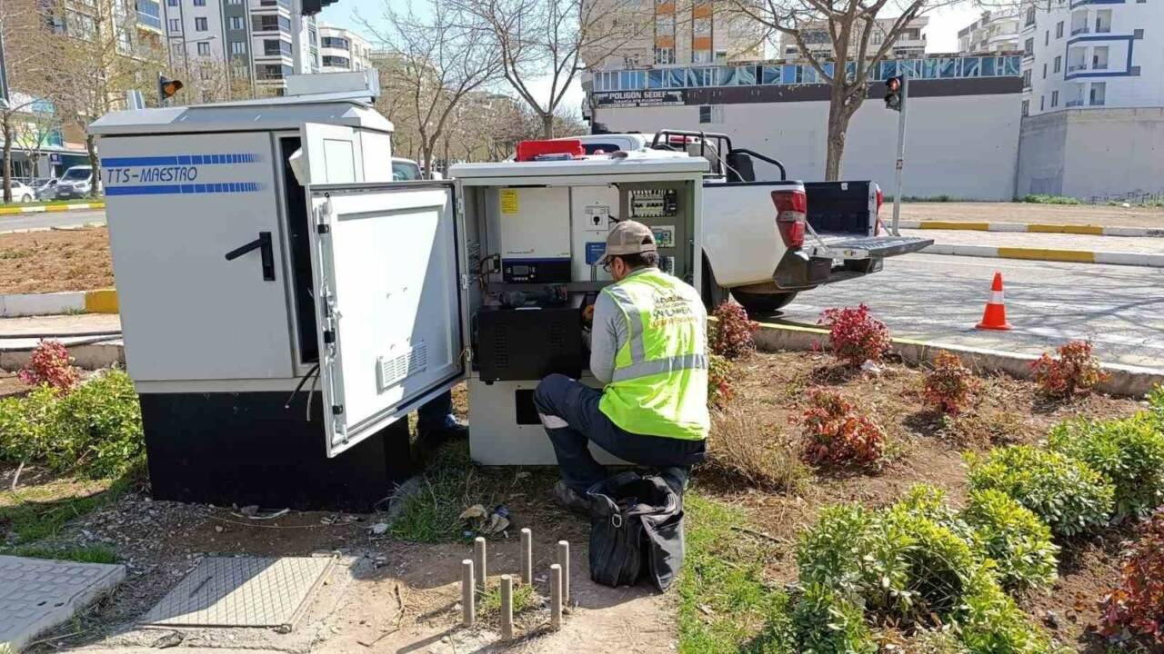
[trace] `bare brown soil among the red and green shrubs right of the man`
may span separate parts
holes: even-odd
[[[832,388],[857,403],[887,435],[889,462],[881,470],[817,472],[795,496],[740,491],[739,484],[704,477],[710,485],[704,486],[705,491],[747,507],[765,534],[788,543],[787,555],[776,557],[769,569],[778,583],[796,580],[793,548],[797,533],[816,520],[823,506],[859,502],[880,507],[899,499],[916,483],[944,489],[959,505],[966,493],[961,450],[1035,445],[1065,419],[1120,418],[1143,408],[1141,403],[1102,394],[1046,403],[1028,382],[991,376],[982,378],[974,406],[946,422],[925,407],[923,371],[897,363],[885,365],[879,375],[853,374],[837,367],[828,354],[774,353],[752,356],[740,364],[740,372],[732,406],[754,417],[755,425],[774,439],[799,438],[789,417],[799,415],[796,400],[815,385]],[[1088,630],[1099,618],[1096,602],[1116,580],[1119,541],[1127,536],[1126,532],[1113,528],[1091,541],[1065,543],[1060,578],[1053,590],[1023,599],[1034,619],[1080,651],[1098,647]]]

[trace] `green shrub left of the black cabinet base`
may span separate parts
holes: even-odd
[[[42,385],[0,399],[0,458],[108,477],[143,452],[141,406],[121,370],[94,375],[66,396]]]

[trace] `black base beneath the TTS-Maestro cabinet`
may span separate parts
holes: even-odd
[[[157,499],[230,506],[368,512],[413,472],[409,421],[335,458],[322,397],[286,392],[144,393],[142,422]]]

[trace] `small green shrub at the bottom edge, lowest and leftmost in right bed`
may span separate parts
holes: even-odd
[[[876,642],[865,613],[852,600],[824,584],[809,584],[793,611],[803,654],[875,654]]]

